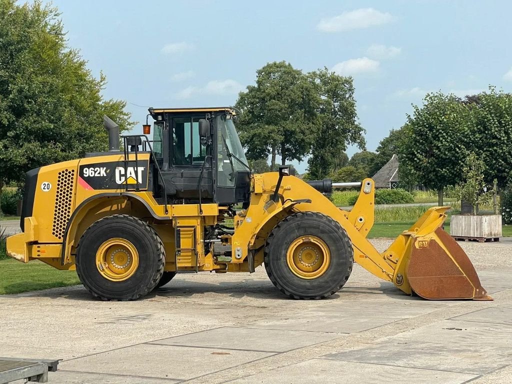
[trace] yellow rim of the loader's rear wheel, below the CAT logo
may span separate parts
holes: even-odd
[[[96,268],[105,279],[125,281],[134,275],[138,266],[139,252],[126,239],[109,239],[96,252]]]

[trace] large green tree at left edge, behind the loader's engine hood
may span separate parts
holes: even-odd
[[[106,150],[103,113],[133,125],[105,84],[67,46],[56,8],[0,0],[0,195],[31,168]]]

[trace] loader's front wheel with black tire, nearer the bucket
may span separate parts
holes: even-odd
[[[297,299],[325,298],[347,282],[353,266],[345,229],[316,212],[288,216],[272,229],[265,246],[270,281]]]

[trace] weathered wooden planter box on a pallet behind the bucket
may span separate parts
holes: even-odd
[[[453,215],[450,234],[455,240],[499,241],[501,215]]]

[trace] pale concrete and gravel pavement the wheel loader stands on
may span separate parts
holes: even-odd
[[[0,296],[0,356],[63,359],[51,383],[510,383],[512,244],[460,244],[495,301],[409,297],[357,265],[322,301],[289,300],[263,268],[186,274],[130,303]]]

